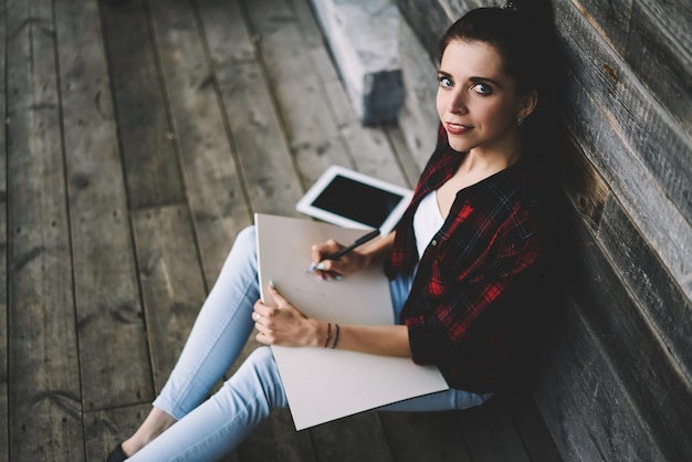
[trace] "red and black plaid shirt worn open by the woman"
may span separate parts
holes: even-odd
[[[457,193],[420,262],[413,213],[458,170],[464,155],[442,129],[411,203],[396,229],[387,274],[418,270],[401,313],[417,364],[434,364],[452,388],[496,391],[532,336],[537,271],[546,246],[527,162]],[[535,335],[533,335],[535,337]]]

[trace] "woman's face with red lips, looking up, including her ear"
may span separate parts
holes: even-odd
[[[502,56],[493,45],[451,41],[438,80],[438,114],[454,150],[516,154],[516,118],[531,114],[537,97],[535,92],[515,94],[514,78],[503,72]]]

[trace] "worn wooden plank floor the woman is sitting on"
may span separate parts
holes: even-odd
[[[332,164],[408,186],[420,166],[397,127],[355,119],[307,0],[0,11],[0,461],[99,461],[148,411],[254,212],[296,216]],[[559,456],[518,399],[302,432],[281,410],[226,460]]]

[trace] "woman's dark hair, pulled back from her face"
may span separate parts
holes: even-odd
[[[508,0],[503,8],[469,11],[442,35],[440,57],[455,40],[493,45],[517,94],[538,93],[538,105],[522,126],[524,155],[545,175],[557,175],[565,138],[559,123],[564,67],[549,0]]]

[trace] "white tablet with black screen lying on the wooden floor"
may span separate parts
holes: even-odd
[[[345,228],[377,228],[385,237],[397,225],[412,196],[410,189],[332,166],[295,208]]]

